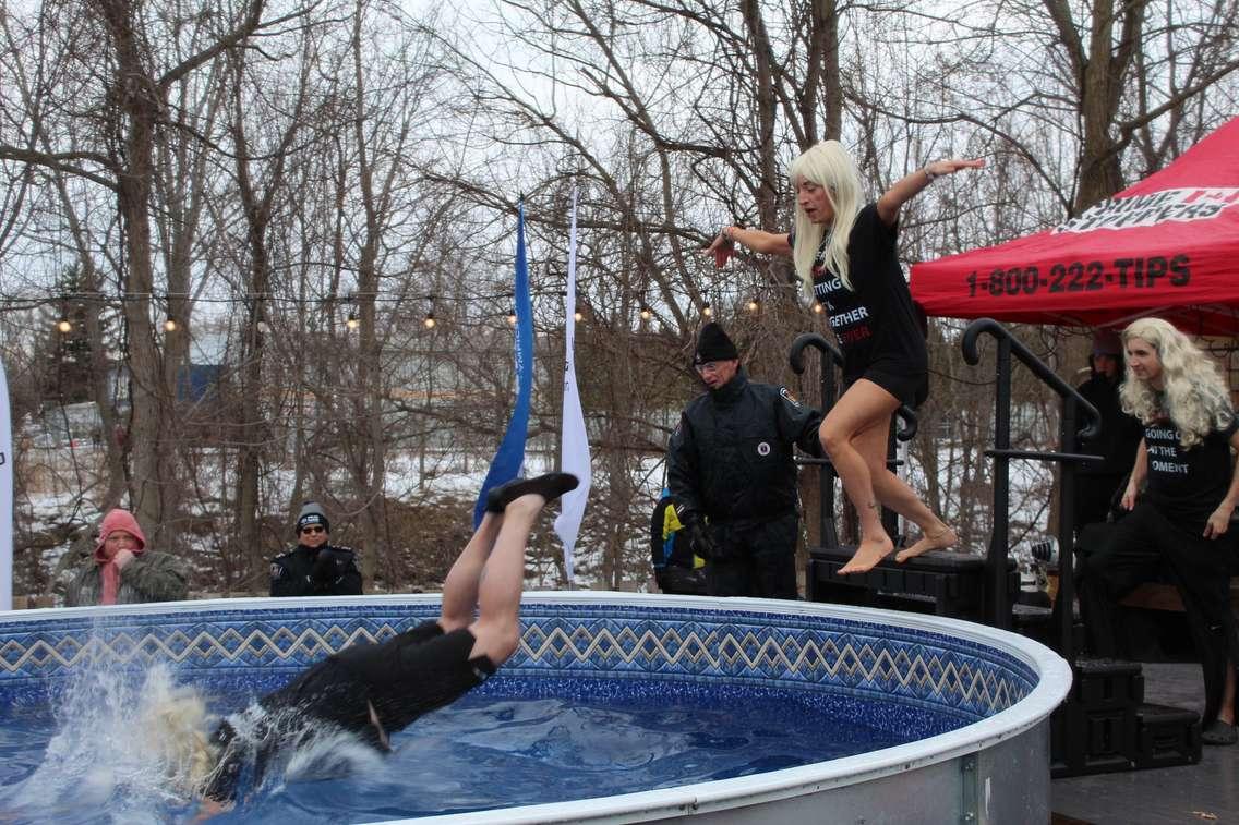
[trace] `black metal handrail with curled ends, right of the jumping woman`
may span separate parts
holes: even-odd
[[[1070,504],[1075,498],[1075,465],[1080,461],[1099,460],[1099,456],[1080,456],[1075,452],[1077,439],[1090,439],[1101,427],[1101,415],[1089,404],[1075,388],[1059,378],[1049,367],[1037,358],[1027,347],[1017,341],[1006,327],[994,318],[978,318],[964,330],[961,347],[964,360],[971,365],[980,363],[978,339],[983,333],[991,334],[999,344],[995,358],[994,393],[994,448],[986,455],[994,458],[994,529],[990,533],[990,549],[986,565],[986,613],[995,627],[1007,627],[1011,621],[1011,606],[1006,597],[1007,569],[1007,505],[1010,498],[1010,462],[1012,458],[1032,458],[1053,461],[1061,465],[1058,494],[1058,605],[1059,616],[1059,653],[1068,661],[1074,661],[1074,622],[1073,605],[1075,583],[1072,576],[1073,548],[1075,531],[1075,513]],[[1018,358],[1046,385],[1063,399],[1063,419],[1059,427],[1059,448],[1057,451],[1012,450],[1011,448],[1011,356]],[[1089,419],[1088,426],[1077,431],[1077,412],[1083,410]]]

